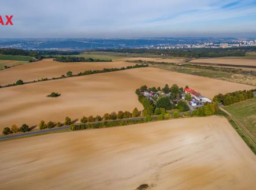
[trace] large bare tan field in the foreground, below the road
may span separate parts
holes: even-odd
[[[256,157],[224,117],[0,143],[0,189],[254,189]]]

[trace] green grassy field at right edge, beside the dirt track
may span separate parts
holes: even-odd
[[[250,131],[251,135],[256,138],[256,98],[248,99],[223,108],[242,122],[248,131]]]

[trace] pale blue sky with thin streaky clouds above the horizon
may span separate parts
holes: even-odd
[[[8,0],[0,38],[256,38],[256,0]]]

